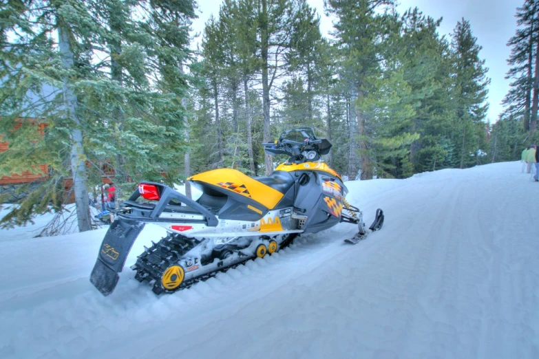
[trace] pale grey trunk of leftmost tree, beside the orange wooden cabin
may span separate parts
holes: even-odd
[[[67,30],[63,28],[62,23],[59,23],[58,26],[58,39],[63,67],[64,69],[69,70],[73,67],[74,58],[70,48],[69,36],[67,36]],[[90,226],[90,217],[88,213],[89,199],[86,186],[87,175],[83,149],[83,131],[81,129],[81,120],[78,118],[77,114],[78,102],[76,95],[67,78],[63,78],[62,92],[67,116],[74,122],[74,127],[70,133],[70,140],[72,142],[70,162],[73,176],[78,230],[79,232],[84,232],[92,228]]]

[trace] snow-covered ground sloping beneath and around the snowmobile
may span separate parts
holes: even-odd
[[[89,274],[106,229],[0,231],[0,358],[539,358],[539,184],[518,162],[348,182],[340,224],[176,294]],[[369,223],[368,223],[369,224]]]

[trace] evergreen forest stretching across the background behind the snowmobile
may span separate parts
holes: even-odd
[[[1,0],[0,177],[48,168],[1,224],[61,210],[70,179],[91,229],[103,164],[118,199],[213,168],[267,175],[284,158],[261,142],[293,127],[327,138],[324,160],[350,180],[519,160],[539,142],[539,0],[515,11],[499,39],[511,87],[487,119],[469,21],[443,36],[442,19],[394,0],[325,0],[330,36],[307,0],[223,0],[196,44],[193,0]]]

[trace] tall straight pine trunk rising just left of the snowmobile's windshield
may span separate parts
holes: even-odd
[[[271,142],[270,128],[270,97],[268,83],[268,4],[267,0],[262,0],[262,17],[260,19],[260,46],[262,54],[262,118],[264,123],[264,142]],[[273,171],[273,160],[271,155],[264,155],[264,163],[266,164],[266,175],[270,175]]]

